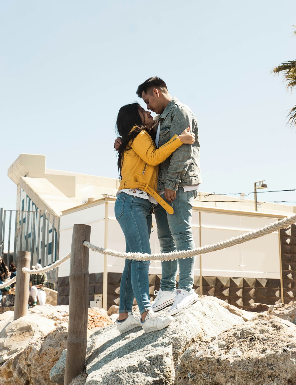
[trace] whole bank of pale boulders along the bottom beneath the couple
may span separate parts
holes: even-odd
[[[120,334],[118,309],[91,308],[85,372],[72,385],[294,385],[296,302],[251,311],[200,296],[164,330]],[[263,311],[258,313],[257,311]],[[0,384],[63,384],[68,306],[0,314]]]

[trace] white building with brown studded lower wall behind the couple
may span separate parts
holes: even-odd
[[[56,171],[46,169],[45,166],[45,156],[21,154],[8,170],[8,176],[18,186],[17,210],[20,213],[24,210],[32,211],[32,208],[33,211],[38,211],[38,214],[32,214],[32,217],[36,216],[36,221],[30,218],[25,223],[19,218],[15,221],[18,224],[17,244],[20,244],[23,234],[26,234],[22,246],[26,244],[28,251],[32,250],[32,261],[38,259],[46,264],[54,261],[57,256],[62,258],[66,255],[71,248],[75,223],[91,226],[91,243],[125,251],[125,239],[114,216],[118,180]],[[266,226],[291,215],[294,209],[292,206],[265,203],[255,212],[254,201],[205,195],[205,192],[200,191],[193,207],[192,228],[196,247],[217,243]],[[209,202],[213,200],[215,202]],[[49,226],[46,227],[47,236],[43,233],[43,239],[48,241],[42,243],[42,231],[39,236],[41,241],[38,242],[38,231],[32,230],[30,233],[27,228],[38,228],[38,218],[39,223],[43,223],[44,210],[49,213]],[[28,214],[23,213],[23,218],[27,218]],[[153,226],[150,243],[152,253],[156,253],[159,252],[159,247],[155,222]],[[42,228],[40,225],[39,227]],[[52,228],[55,231],[50,232]],[[254,302],[289,302],[296,295],[294,232],[296,230],[292,226],[286,232],[282,230],[281,236],[274,232],[241,245],[197,256],[195,290],[198,293],[215,295],[239,307],[246,307]],[[34,233],[38,234],[32,242]],[[32,243],[33,247],[30,246]],[[90,251],[89,301],[103,294],[105,307],[118,304],[123,265],[124,259],[104,257]],[[67,261],[58,269],[58,304],[67,304],[69,300],[69,268],[70,261]],[[151,295],[159,288],[160,277],[160,262],[151,262]]]

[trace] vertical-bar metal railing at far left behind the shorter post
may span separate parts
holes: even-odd
[[[44,211],[0,209],[0,256],[9,266],[17,263],[18,251],[31,253],[31,265],[52,264],[58,259],[60,218]],[[13,244],[12,244],[13,243]],[[6,255],[5,255],[6,254]],[[57,283],[57,270],[47,276]]]

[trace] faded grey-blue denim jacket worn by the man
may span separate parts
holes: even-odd
[[[190,108],[173,97],[163,113],[157,117],[160,122],[158,147],[163,146],[175,134],[179,135],[187,127],[195,134],[195,143],[183,144],[159,166],[158,191],[165,188],[176,191],[180,186],[201,183],[200,143],[198,141],[197,120]]]

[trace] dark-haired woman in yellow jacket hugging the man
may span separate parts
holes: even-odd
[[[175,135],[159,149],[150,136],[155,124],[150,112],[133,103],[118,112],[116,126],[121,136],[118,149],[120,187],[115,203],[115,217],[125,235],[126,252],[151,254],[151,211],[158,203],[170,214],[173,209],[155,191],[158,164],[169,157],[183,143],[193,144],[195,135],[190,127]],[[120,333],[142,326],[145,333],[161,330],[173,320],[171,316],[157,316],[151,310],[148,270],[150,261],[125,260],[120,283],[119,317],[116,325]],[[133,299],[140,309],[139,318],[132,312]]]

